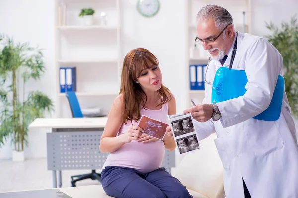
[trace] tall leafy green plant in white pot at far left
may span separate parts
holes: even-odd
[[[2,38],[2,40],[1,40]],[[29,124],[53,110],[52,100],[40,91],[27,92],[26,83],[45,71],[41,49],[15,44],[0,35],[0,146],[11,137],[13,161],[24,160]]]

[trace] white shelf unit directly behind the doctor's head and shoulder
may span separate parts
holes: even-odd
[[[192,99],[196,104],[200,104],[205,97],[205,90],[190,90],[189,65],[208,63],[209,55],[204,52],[202,46],[198,46],[199,52],[201,52],[200,56],[190,57],[190,48],[194,46],[194,39],[197,35],[195,25],[197,13],[202,7],[208,4],[220,5],[226,8],[233,17],[235,29],[240,32],[251,33],[251,0],[185,0],[185,69],[187,74],[187,103],[185,105],[187,108],[192,106],[190,99]],[[243,11],[245,12],[245,16],[243,15]],[[245,26],[242,24],[245,24]]]

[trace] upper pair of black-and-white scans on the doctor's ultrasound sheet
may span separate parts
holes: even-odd
[[[194,126],[190,117],[172,122],[173,133],[180,136],[194,131]]]

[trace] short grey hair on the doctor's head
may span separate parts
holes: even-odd
[[[219,30],[223,30],[228,24],[232,24],[234,26],[232,15],[224,7],[218,5],[207,5],[202,7],[197,14],[196,22],[198,23],[200,19],[210,18],[214,19],[215,26]]]

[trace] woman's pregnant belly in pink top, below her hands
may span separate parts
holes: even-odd
[[[124,166],[148,173],[160,167],[164,151],[161,140],[151,143],[132,141],[110,153],[105,166]]]

